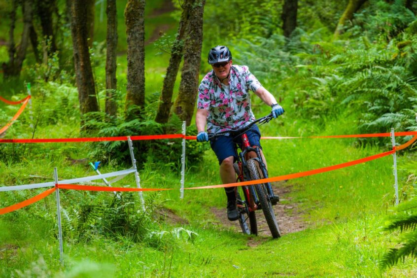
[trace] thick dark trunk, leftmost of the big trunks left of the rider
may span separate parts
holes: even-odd
[[[94,0],[89,0],[93,1]],[[88,26],[86,16],[89,3],[86,0],[73,0],[71,3],[71,35],[74,56],[75,80],[78,88],[78,101],[81,116],[99,111],[96,98],[93,70],[88,51]],[[82,119],[81,125],[84,119]]]

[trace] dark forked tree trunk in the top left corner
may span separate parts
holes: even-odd
[[[18,76],[22,70],[22,64],[26,57],[26,49],[30,40],[30,30],[32,26],[32,0],[24,0],[22,6],[23,11],[23,32],[20,45],[16,48],[14,44],[14,28],[16,23],[17,1],[12,1],[13,10],[10,13],[10,32],[9,32],[9,62],[3,63],[4,77]]]

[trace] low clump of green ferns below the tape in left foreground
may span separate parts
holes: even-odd
[[[109,193],[112,194],[112,193]],[[138,193],[99,194],[90,198],[77,198],[78,204],[65,210],[67,234],[76,241],[91,241],[96,236],[117,240],[127,238],[142,241],[152,230],[150,215],[155,208],[155,195],[139,208]]]

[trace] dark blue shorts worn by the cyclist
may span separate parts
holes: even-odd
[[[261,143],[259,142],[261,132],[257,125],[253,125],[250,130],[246,131],[246,135],[249,139],[250,146],[258,146],[262,149]],[[214,140],[210,140],[211,149],[216,154],[219,165],[229,156],[233,156],[234,162],[238,159],[238,153],[235,149],[236,143],[241,146],[242,138],[240,135],[236,139],[233,139],[232,136],[220,136]]]

